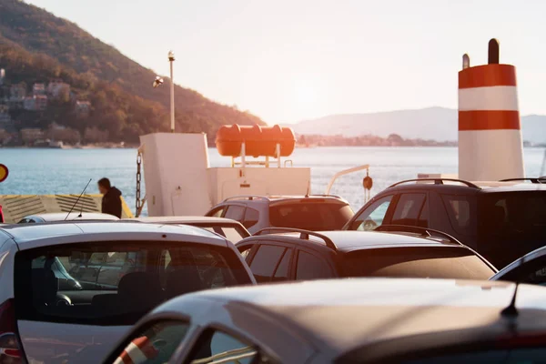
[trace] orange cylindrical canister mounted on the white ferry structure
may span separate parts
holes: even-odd
[[[282,126],[221,126],[216,145],[220,156],[240,157],[245,143],[245,154],[252,157],[288,157],[296,147],[296,136],[289,127]],[[277,145],[280,156],[277,156]]]

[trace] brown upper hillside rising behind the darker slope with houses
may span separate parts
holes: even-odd
[[[45,82],[47,77],[60,76],[65,82],[68,82],[65,78],[74,79],[78,83],[77,92],[87,94],[88,98],[99,103],[116,102],[116,98],[123,98],[125,102],[121,104],[126,104],[125,107],[109,110],[114,116],[102,115],[113,118],[103,124],[118,124],[118,132],[114,133],[116,138],[121,138],[123,135],[120,131],[130,125],[136,133],[159,129],[167,131],[169,80],[166,78],[164,86],[152,88],[155,72],[138,65],[76,24],[19,0],[2,0],[0,45],[3,47],[0,67],[6,69],[8,79],[16,76],[28,84],[34,80]],[[11,48],[14,49],[8,63],[5,50]],[[23,55],[32,56],[33,59],[27,61]],[[25,63],[25,72],[29,71],[33,76],[10,68],[16,59]],[[224,124],[264,124],[258,116],[217,104],[196,91],[176,86],[175,93],[177,131],[214,133],[217,127]],[[95,103],[93,108],[94,111],[106,112],[105,107]],[[135,121],[136,112],[145,112],[154,120],[149,126],[145,119]],[[101,115],[95,112],[95,116],[98,118]]]

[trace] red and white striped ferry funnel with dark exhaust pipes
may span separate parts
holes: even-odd
[[[499,64],[491,39],[489,63],[459,72],[459,177],[495,181],[524,177],[516,68]]]

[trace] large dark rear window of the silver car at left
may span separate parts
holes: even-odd
[[[169,298],[250,282],[235,251],[205,244],[113,241],[15,256],[19,319],[131,325]]]

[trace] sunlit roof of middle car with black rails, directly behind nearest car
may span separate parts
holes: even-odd
[[[274,230],[273,230],[274,231]],[[434,238],[419,238],[406,233],[390,233],[378,231],[356,231],[356,230],[336,230],[336,231],[319,231],[319,235],[323,235],[336,245],[337,251],[349,252],[360,249],[371,248],[403,248],[403,247],[461,247],[460,245],[452,244],[447,241],[440,241]],[[257,239],[257,237],[277,237],[299,238],[299,232],[267,234],[250,237],[248,239]],[[264,238],[267,239],[267,238]],[[324,240],[309,235],[308,239],[313,242],[324,243]],[[244,242],[245,240],[241,240]],[[307,241],[307,240],[306,240]],[[240,243],[240,242],[239,242]]]

